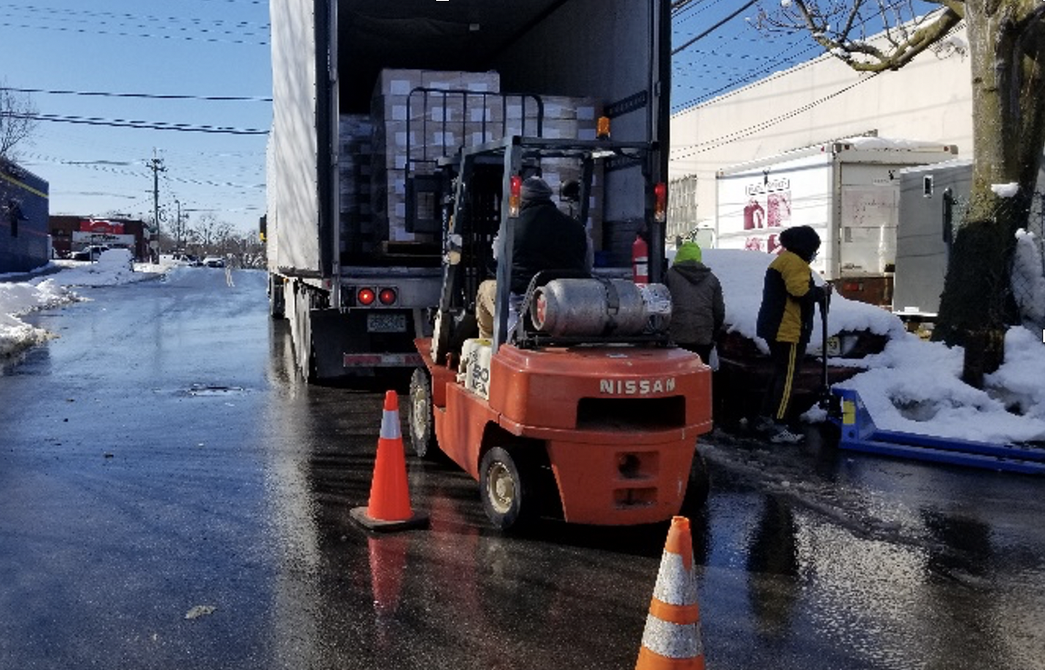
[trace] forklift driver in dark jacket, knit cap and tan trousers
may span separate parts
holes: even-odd
[[[515,219],[515,244],[512,249],[511,293],[508,331],[515,328],[518,308],[533,276],[542,270],[591,271],[590,238],[584,225],[563,214],[552,201],[552,187],[539,176],[522,182],[519,216]],[[497,240],[494,259],[500,256]],[[479,336],[493,337],[493,301],[496,282],[486,280],[475,296],[475,320]]]

